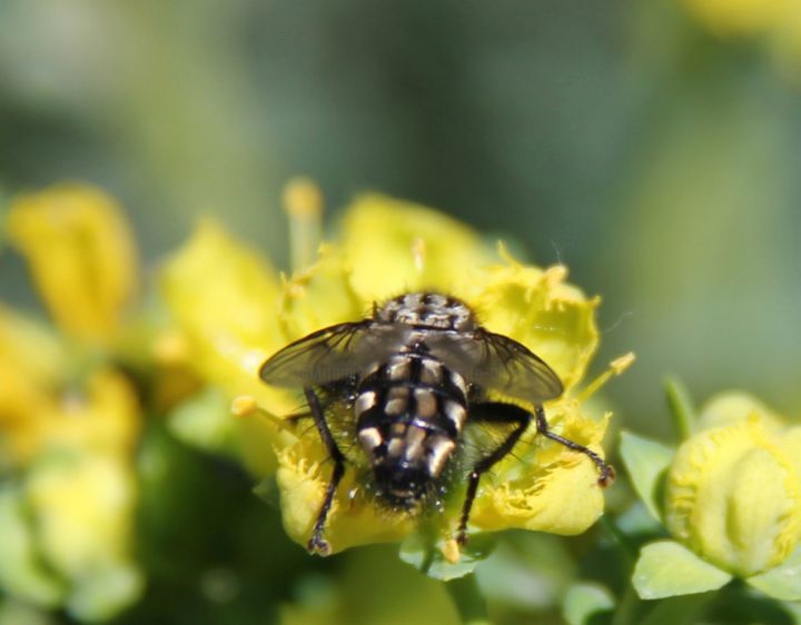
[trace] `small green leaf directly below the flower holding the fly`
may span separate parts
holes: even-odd
[[[444,545],[443,538],[432,538],[426,533],[418,532],[404,539],[398,555],[403,562],[428,577],[448,582],[473,573],[478,563],[492,553],[495,538],[483,534],[471,536],[469,542],[462,547],[462,556],[456,563],[445,559]]]

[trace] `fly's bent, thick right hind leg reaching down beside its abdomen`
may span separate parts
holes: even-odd
[[[456,542],[459,545],[464,545],[467,542],[467,520],[469,519],[469,513],[473,508],[473,500],[478,490],[481,476],[488,472],[495,463],[501,460],[514,448],[531,423],[531,415],[526,410],[520,406],[502,404],[500,401],[474,404],[471,406],[468,418],[473,421],[511,424],[514,425],[515,428],[504,438],[501,445],[478,460],[467,476],[467,493],[465,494],[462,518],[459,519],[458,530],[456,533]]]

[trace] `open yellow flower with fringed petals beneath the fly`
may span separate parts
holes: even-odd
[[[314,430],[304,434],[306,425],[281,420],[301,405],[298,395],[259,388],[258,365],[313,330],[364,318],[374,302],[389,296],[449,292],[471,304],[490,330],[541,355],[567,389],[546,407],[554,430],[603,453],[607,419],[587,416],[572,393],[597,346],[599,299],[566,284],[563,267],[523,265],[503,250],[498,258],[476,232],[442,214],[370,195],[346,211],[338,237],[320,247],[316,261],[296,269],[290,278],[276,279],[253,252],[218,227],[204,225],[162,274],[165,299],[191,346],[186,361],[231,395],[254,398],[237,401],[237,423],[260,424],[260,436],[275,447],[284,524],[295,540],[308,540],[332,465]],[[231,310],[237,307],[241,310]],[[534,434],[532,427],[515,448],[516,457],[482,479],[471,517],[475,530],[522,527],[575,534],[601,515],[603,495],[593,463]],[[251,468],[256,460],[247,447],[255,446],[257,436],[251,429],[240,439]],[[454,510],[446,516],[446,525],[453,526]],[[326,526],[334,552],[396,540],[413,528],[407,516],[376,508],[357,472],[346,472]]]

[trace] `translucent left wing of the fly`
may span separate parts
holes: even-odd
[[[388,358],[406,333],[388,324],[338,324],[287,345],[259,369],[267,384],[287,387],[325,385]]]

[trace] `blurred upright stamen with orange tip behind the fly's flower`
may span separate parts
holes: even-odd
[[[323,231],[323,195],[309,178],[294,178],[284,188],[284,209],[289,217],[289,254],[294,272],[317,258]]]

